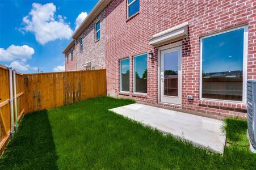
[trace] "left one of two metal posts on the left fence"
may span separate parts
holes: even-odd
[[[12,94],[12,70],[11,67],[9,70],[9,92],[10,92],[10,116],[11,116],[11,135],[14,133],[14,116],[13,116],[13,94]]]

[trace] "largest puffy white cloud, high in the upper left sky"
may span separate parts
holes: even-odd
[[[20,32],[32,32],[36,36],[36,41],[45,44],[56,39],[69,39],[73,31],[64,20],[66,17],[54,15],[56,6],[53,3],[41,5],[32,3],[32,10],[23,18],[23,28]]]

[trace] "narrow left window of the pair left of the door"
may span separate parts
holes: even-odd
[[[129,91],[130,90],[130,69],[129,69],[130,59],[120,60],[120,91]]]

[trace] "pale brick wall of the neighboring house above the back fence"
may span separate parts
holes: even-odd
[[[75,40],[75,51],[77,54],[77,70],[85,70],[85,63],[91,62],[91,67],[97,66],[98,69],[105,68],[105,42],[106,42],[106,22],[104,10]],[[100,20],[100,40],[95,41],[95,22]],[[80,37],[83,36],[83,51],[80,52]]]

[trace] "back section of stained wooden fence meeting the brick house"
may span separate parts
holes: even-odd
[[[106,70],[24,74],[26,113],[106,95]]]

